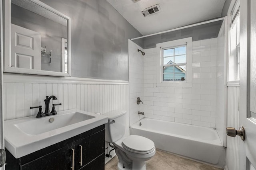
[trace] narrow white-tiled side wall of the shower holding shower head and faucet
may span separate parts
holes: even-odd
[[[138,49],[144,51],[141,47],[136,45],[134,42],[129,40],[129,90],[130,90],[130,103],[129,103],[129,112],[130,112],[130,125],[136,121],[143,118],[143,115],[138,115],[138,111],[144,111],[142,103],[137,104],[137,97],[140,97],[140,100],[144,104],[151,104],[152,101],[145,102],[144,100],[144,69],[150,70],[151,66],[147,65],[144,67],[143,57],[141,53],[138,53]],[[146,56],[146,55],[145,55]],[[149,75],[147,80],[154,80],[154,76]],[[153,88],[149,86],[148,88]],[[148,96],[153,96],[153,92],[146,92]]]

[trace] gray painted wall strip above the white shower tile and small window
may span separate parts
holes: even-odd
[[[159,35],[153,35],[150,37],[145,37],[143,39],[144,49],[155,48],[157,43],[173,41],[176,39],[182,39],[187,37],[192,37],[192,41],[216,38],[218,37],[221,24],[222,20]]]

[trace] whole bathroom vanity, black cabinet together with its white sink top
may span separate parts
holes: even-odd
[[[104,170],[107,122],[76,109],[5,121],[6,170]]]

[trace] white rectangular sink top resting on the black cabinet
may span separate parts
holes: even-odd
[[[4,121],[5,147],[20,158],[107,122],[104,115],[76,109],[42,118],[12,119]]]

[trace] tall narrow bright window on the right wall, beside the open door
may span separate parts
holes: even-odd
[[[239,81],[240,71],[240,8],[234,6],[231,14],[230,51],[228,57],[228,81]]]

